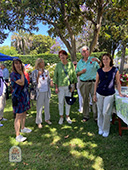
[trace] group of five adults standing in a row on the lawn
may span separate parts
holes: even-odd
[[[42,128],[42,110],[44,106],[45,122],[49,125],[50,121],[50,86],[55,86],[55,93],[58,95],[59,124],[64,122],[64,104],[65,120],[71,124],[70,105],[67,104],[65,96],[71,96],[77,84],[79,95],[80,110],[83,111],[83,122],[90,119],[89,101],[92,98],[92,111],[94,121],[98,124],[98,134],[107,137],[110,132],[110,117],[112,114],[115,83],[120,96],[121,85],[119,71],[113,66],[113,60],[110,54],[105,53],[101,61],[98,58],[91,57],[89,48],[81,48],[82,58],[77,63],[69,62],[68,54],[65,50],[59,51],[60,62],[56,65],[53,80],[49,76],[48,70],[45,70],[44,60],[38,58],[35,63],[32,81],[36,84],[36,124]],[[16,132],[16,141],[23,142],[26,137],[22,133],[30,133],[31,129],[25,127],[26,111],[30,108],[30,99],[28,93],[28,81],[24,75],[22,61],[19,58],[13,60],[12,73],[10,74],[12,86],[12,104],[13,112],[16,114],[14,127]],[[2,81],[2,80],[1,80]],[[2,95],[0,96],[1,99]],[[21,130],[20,130],[21,129]]]

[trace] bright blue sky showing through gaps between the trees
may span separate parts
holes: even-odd
[[[40,23],[37,26],[39,27],[39,31],[38,32],[33,31],[32,33],[35,33],[36,35],[37,34],[48,35],[48,32],[47,32],[48,31],[48,25],[43,25],[43,24]],[[9,33],[9,35],[8,35],[7,39],[5,39],[4,43],[0,44],[0,47],[4,46],[4,45],[11,46],[11,35],[12,34],[13,34],[12,32]]]

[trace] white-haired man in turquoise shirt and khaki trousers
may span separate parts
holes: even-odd
[[[99,59],[90,57],[89,48],[83,46],[81,48],[82,59],[77,63],[76,73],[80,78],[80,92],[83,98],[83,121],[89,120],[89,94],[93,98],[94,84],[96,80],[96,73],[99,68]],[[93,102],[93,101],[92,101]],[[92,103],[93,117],[97,119],[96,103]]]

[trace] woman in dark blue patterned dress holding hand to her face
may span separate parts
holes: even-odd
[[[12,86],[12,104],[13,112],[16,114],[14,127],[16,132],[16,141],[23,142],[27,138],[20,135],[20,126],[22,133],[30,133],[31,129],[25,127],[26,111],[30,108],[28,93],[28,82],[24,75],[22,61],[14,59],[12,63],[12,73],[10,74]]]

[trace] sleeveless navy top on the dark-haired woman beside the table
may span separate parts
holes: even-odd
[[[97,87],[97,93],[103,96],[113,95],[115,93],[115,76],[118,69],[112,67],[108,72],[104,72],[102,68],[97,70],[99,74],[99,84]]]

